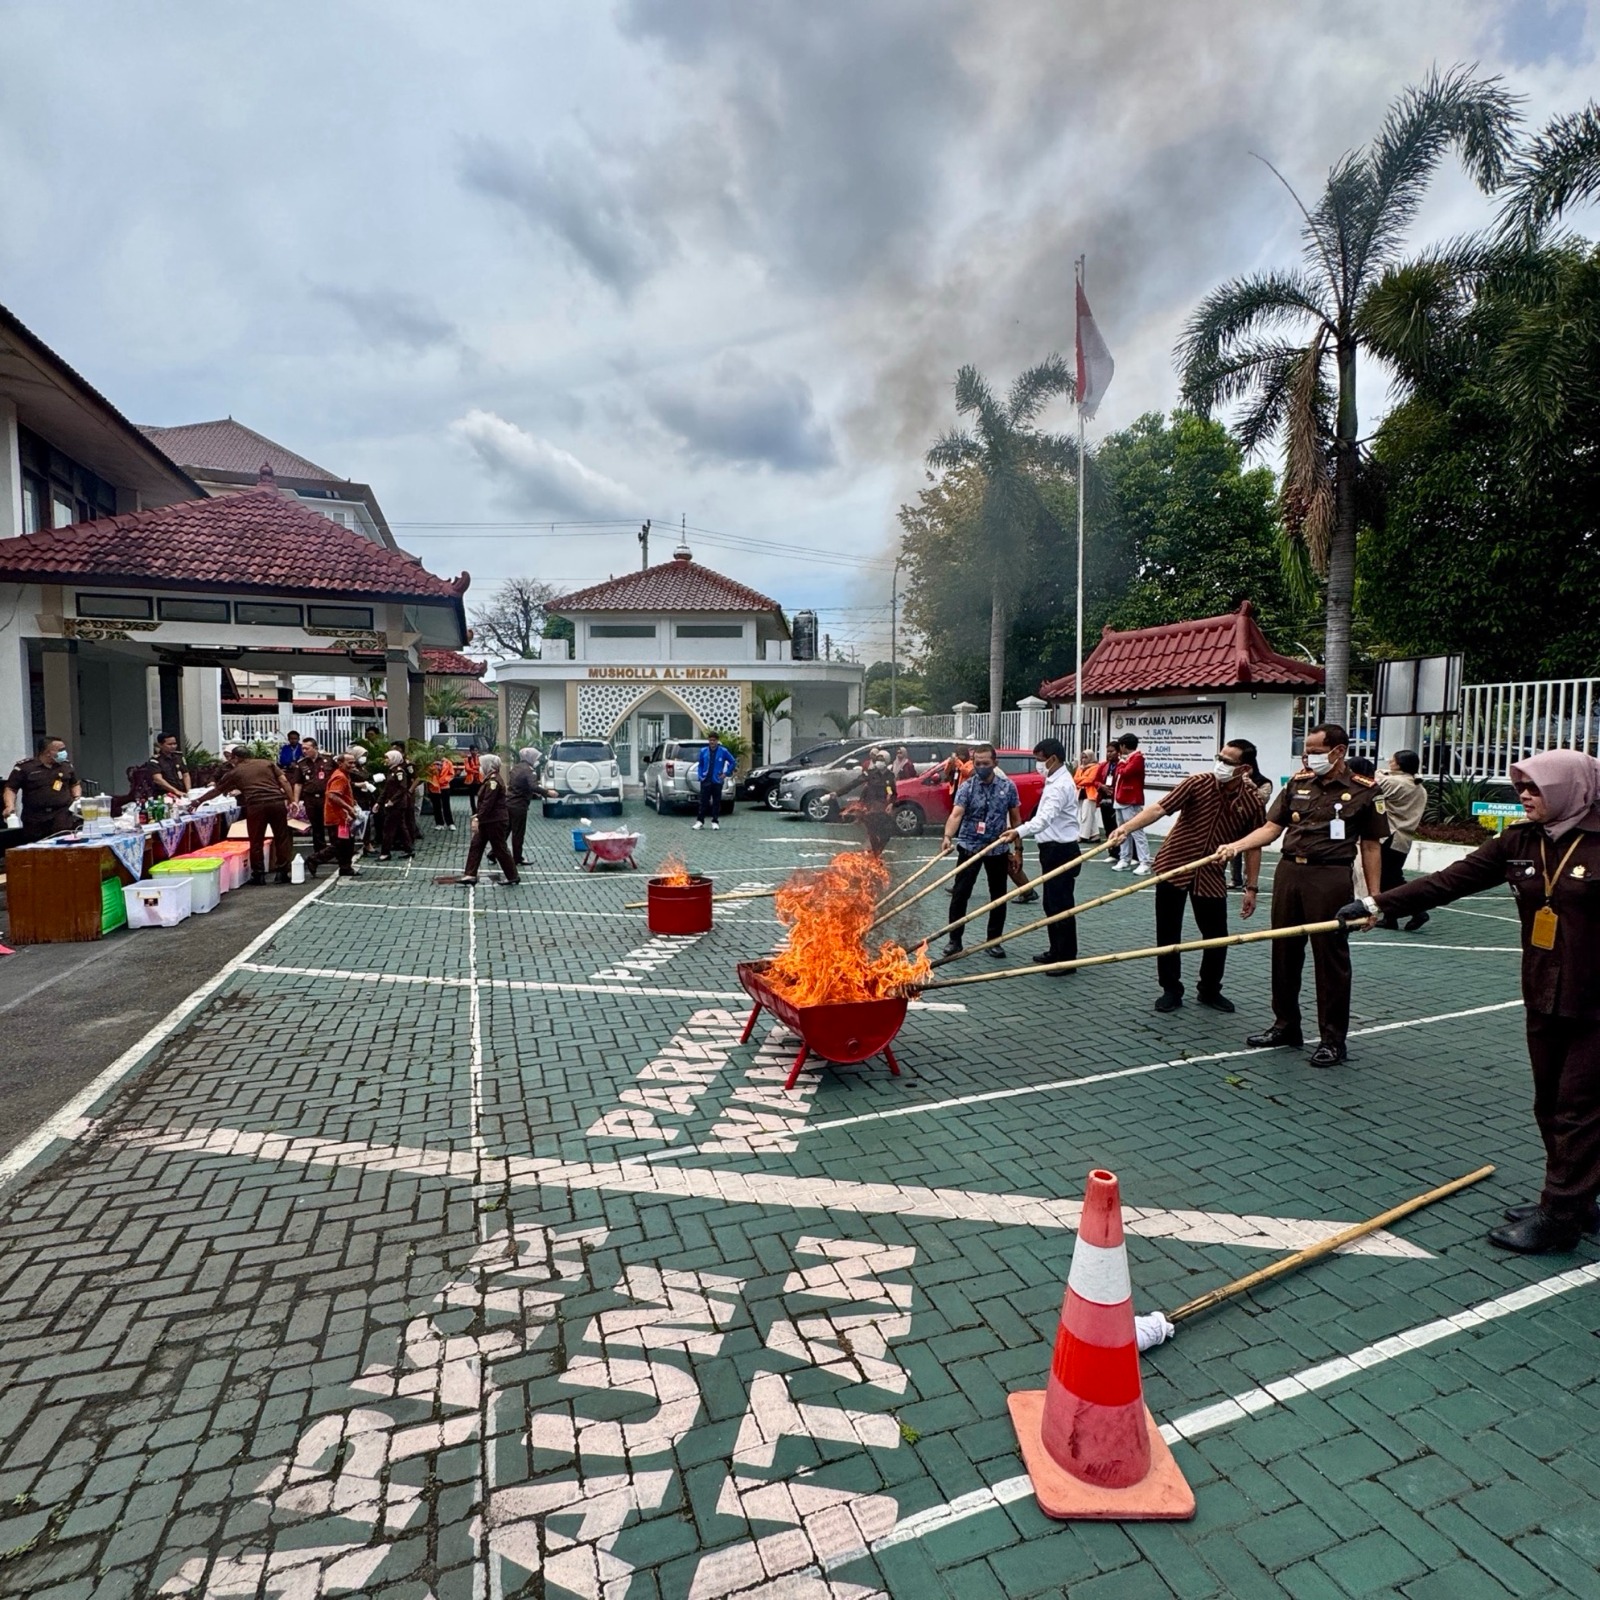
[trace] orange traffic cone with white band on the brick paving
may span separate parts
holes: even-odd
[[[1149,1522],[1195,1514],[1144,1405],[1133,1285],[1112,1173],[1090,1173],[1045,1389],[1006,1397],[1046,1517]]]

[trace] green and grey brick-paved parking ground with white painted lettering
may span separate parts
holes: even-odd
[[[645,827],[723,888],[848,843]],[[1256,949],[1235,1018],[1155,1016],[1138,963],[955,989],[899,1080],[784,1098],[782,1037],[736,1043],[768,904],[651,942],[642,875],[568,842],[536,824],[520,890],[434,883],[464,834],[323,890],[0,1195],[0,1594],[1600,1595],[1597,1251],[1483,1242],[1539,1171],[1509,902],[1358,941],[1339,1072],[1242,1050]],[[1072,1246],[1042,1202],[1090,1166],[1142,1310],[1483,1162],[1144,1358],[1192,1523],[1018,1486]]]

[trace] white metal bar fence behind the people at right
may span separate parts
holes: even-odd
[[[1323,698],[1296,702],[1294,733],[1322,722]],[[1350,754],[1378,754],[1371,694],[1346,707]],[[1582,750],[1600,757],[1600,678],[1533,678],[1522,683],[1469,683],[1459,717],[1424,717],[1418,754],[1422,771],[1445,778],[1504,781],[1512,762],[1539,750]]]

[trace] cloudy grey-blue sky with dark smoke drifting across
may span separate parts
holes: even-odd
[[[477,594],[686,518],[870,658],[955,368],[1069,349],[1077,254],[1118,427],[1294,256],[1253,152],[1314,190],[1432,64],[1541,122],[1597,46],[1582,0],[0,0],[0,302],[141,422],[371,482]],[[1485,216],[1451,174],[1419,238]]]

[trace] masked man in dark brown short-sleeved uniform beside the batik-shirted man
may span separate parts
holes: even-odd
[[[1384,800],[1371,778],[1346,766],[1350,736],[1334,722],[1320,722],[1306,734],[1306,762],[1272,802],[1267,821],[1253,834],[1221,846],[1224,861],[1270,845],[1283,835],[1283,854],[1272,877],[1272,926],[1331,922],[1350,898],[1350,869],[1360,851],[1370,893],[1378,893],[1382,870],[1379,846],[1389,837]],[[1317,1029],[1314,1067],[1336,1067],[1346,1059],[1350,1030],[1350,942],[1338,933],[1310,941],[1317,970]],[[1306,968],[1306,939],[1272,942],[1272,1027],[1251,1034],[1253,1050],[1301,1045],[1299,989]]]

